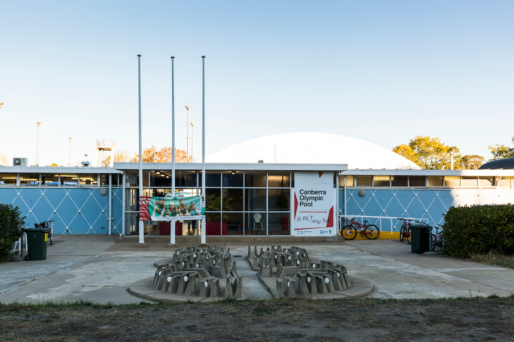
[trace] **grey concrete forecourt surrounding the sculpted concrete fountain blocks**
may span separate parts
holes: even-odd
[[[94,303],[139,303],[127,288],[152,277],[156,260],[171,257],[168,243],[118,243],[118,236],[60,235],[48,246],[47,259],[0,264],[0,303],[90,300]],[[246,255],[248,244],[217,243]],[[252,243],[268,247],[272,244]],[[277,244],[275,244],[277,245]],[[290,245],[280,244],[283,247]],[[438,255],[411,253],[398,240],[354,240],[294,244],[309,256],[346,266],[348,273],[370,281],[378,298],[509,296],[514,270]],[[188,246],[186,244],[183,247]],[[182,246],[179,246],[182,247]],[[245,290],[246,291],[246,290]]]

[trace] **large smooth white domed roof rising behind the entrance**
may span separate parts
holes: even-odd
[[[381,146],[344,135],[285,133],[227,147],[207,163],[348,164],[348,169],[414,169],[409,159]]]

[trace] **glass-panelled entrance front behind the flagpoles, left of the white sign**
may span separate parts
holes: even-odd
[[[137,172],[126,171],[126,234],[137,234]],[[143,171],[143,196],[201,194],[200,171]],[[206,235],[290,235],[290,171],[206,171]],[[259,214],[259,215],[255,215]],[[199,222],[177,223],[177,235],[199,235]],[[145,235],[169,235],[169,223],[146,222]]]

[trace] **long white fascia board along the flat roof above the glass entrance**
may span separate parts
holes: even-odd
[[[118,170],[139,170],[139,163],[114,163]],[[171,170],[172,163],[143,163],[143,170]],[[201,163],[175,163],[176,170],[201,170]],[[206,170],[215,171],[344,171],[347,164],[238,164],[209,163]]]

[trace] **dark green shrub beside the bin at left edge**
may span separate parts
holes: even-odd
[[[18,207],[0,203],[0,261],[12,256],[12,245],[22,236],[25,217],[20,216]]]

